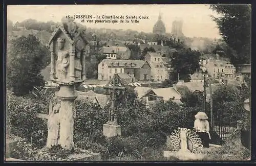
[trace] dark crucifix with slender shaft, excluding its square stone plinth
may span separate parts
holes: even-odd
[[[109,125],[118,125],[117,123],[117,114],[115,111],[115,105],[116,105],[116,97],[115,97],[115,91],[116,90],[125,90],[125,87],[121,87],[121,86],[117,86],[117,80],[118,80],[118,76],[117,74],[114,74],[114,78],[113,78],[113,85],[110,86],[105,86],[104,89],[111,89],[112,90],[112,104],[111,104],[111,110],[109,111],[109,120],[107,122],[107,124]]]

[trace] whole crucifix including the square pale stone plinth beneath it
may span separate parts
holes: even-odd
[[[125,90],[125,87],[118,86],[118,76],[114,74],[112,85],[111,86],[104,86],[104,89],[112,90],[112,103],[111,103],[111,110],[109,111],[108,122],[103,125],[103,135],[106,137],[113,137],[116,135],[121,135],[121,126],[118,125],[117,122],[117,113],[116,113],[116,97],[115,91]]]

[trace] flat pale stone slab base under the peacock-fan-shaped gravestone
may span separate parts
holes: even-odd
[[[163,151],[163,156],[166,158],[175,157],[175,158],[178,158],[179,160],[202,160],[205,157],[204,154],[191,153],[190,151],[189,152]]]

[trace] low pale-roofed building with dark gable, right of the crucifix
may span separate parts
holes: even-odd
[[[150,88],[137,86],[134,89],[138,94],[138,100],[142,103],[152,102],[152,101],[168,101],[172,100],[177,104],[182,104],[181,94],[177,91],[175,87],[167,88]],[[146,104],[146,103],[145,103]]]

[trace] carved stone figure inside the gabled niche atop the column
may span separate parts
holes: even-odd
[[[58,54],[57,54],[57,79],[58,80],[65,80],[67,73],[68,73],[68,66],[69,66],[69,52],[64,51],[64,44],[65,44],[65,39],[58,38]]]

